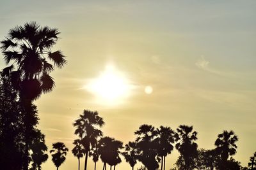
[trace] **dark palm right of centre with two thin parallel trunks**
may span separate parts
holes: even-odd
[[[158,155],[161,157],[161,170],[165,170],[165,157],[173,150],[173,145],[176,141],[175,132],[170,127],[160,126],[157,131]]]

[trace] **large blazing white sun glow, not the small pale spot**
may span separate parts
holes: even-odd
[[[86,89],[97,96],[105,104],[120,103],[120,99],[129,96],[131,85],[124,74],[108,65],[98,78],[91,80]]]

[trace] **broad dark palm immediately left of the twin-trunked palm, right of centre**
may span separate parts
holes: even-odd
[[[141,125],[138,131],[136,143],[138,148],[138,160],[147,167],[148,170],[155,170],[159,167],[157,162],[157,132],[152,125]]]

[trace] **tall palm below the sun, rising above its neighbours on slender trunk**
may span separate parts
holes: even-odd
[[[85,152],[84,170],[87,168],[88,153],[93,145],[97,143],[97,138],[102,136],[102,131],[97,129],[104,125],[104,121],[97,111],[84,110],[83,115],[75,120],[74,127],[76,127],[75,134],[78,134]]]

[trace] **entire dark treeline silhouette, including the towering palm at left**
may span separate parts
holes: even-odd
[[[67,64],[60,50],[51,50],[58,34],[58,29],[29,22],[10,29],[1,41],[7,66],[0,73],[0,169],[42,169],[49,157],[45,136],[37,127],[38,111],[33,102],[54,89],[51,72]],[[78,169],[82,157],[84,169],[92,158],[95,169],[100,159],[106,170],[107,165],[115,169],[123,156],[132,169],[141,162],[141,169],[165,170],[165,158],[174,149],[180,153],[174,169],[246,169],[230,157],[236,153],[238,140],[233,131],[219,134],[214,150],[202,150],[196,144],[197,132],[188,125],[180,125],[175,131],[170,127],[141,125],[134,132],[136,140],[126,145],[103,136],[100,128],[104,120],[97,111],[84,110],[73,125],[77,139],[72,153],[78,159]],[[68,148],[60,141],[52,144],[50,153],[58,169],[65,162]],[[255,157],[256,153],[247,169],[255,169]]]

